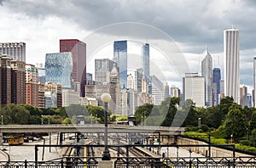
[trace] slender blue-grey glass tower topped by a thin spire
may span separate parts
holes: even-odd
[[[144,77],[149,79],[149,44],[143,44],[143,71]]]

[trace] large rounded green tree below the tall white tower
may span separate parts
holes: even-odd
[[[241,106],[232,104],[228,114],[225,116],[224,124],[221,126],[221,131],[225,137],[243,137],[247,131],[246,115],[243,113]]]

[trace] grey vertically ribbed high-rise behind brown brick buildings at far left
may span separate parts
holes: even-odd
[[[0,54],[7,54],[13,59],[26,62],[26,43],[25,42],[1,42]]]

